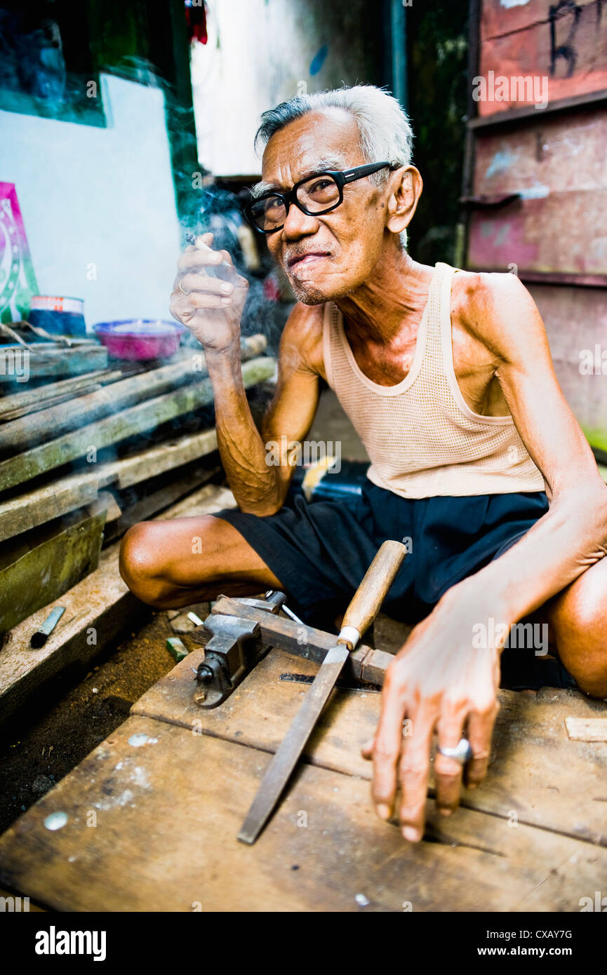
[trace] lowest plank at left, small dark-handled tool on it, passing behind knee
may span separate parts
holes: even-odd
[[[230,491],[207,485],[162,514],[163,519],[206,514],[234,506]],[[31,694],[76,662],[91,660],[149,613],[127,589],[118,571],[120,545],[101,552],[99,567],[61,599],[39,609],[7,635],[0,651],[0,721],[6,721]],[[64,605],[60,625],[38,650],[31,634],[56,604]]]

